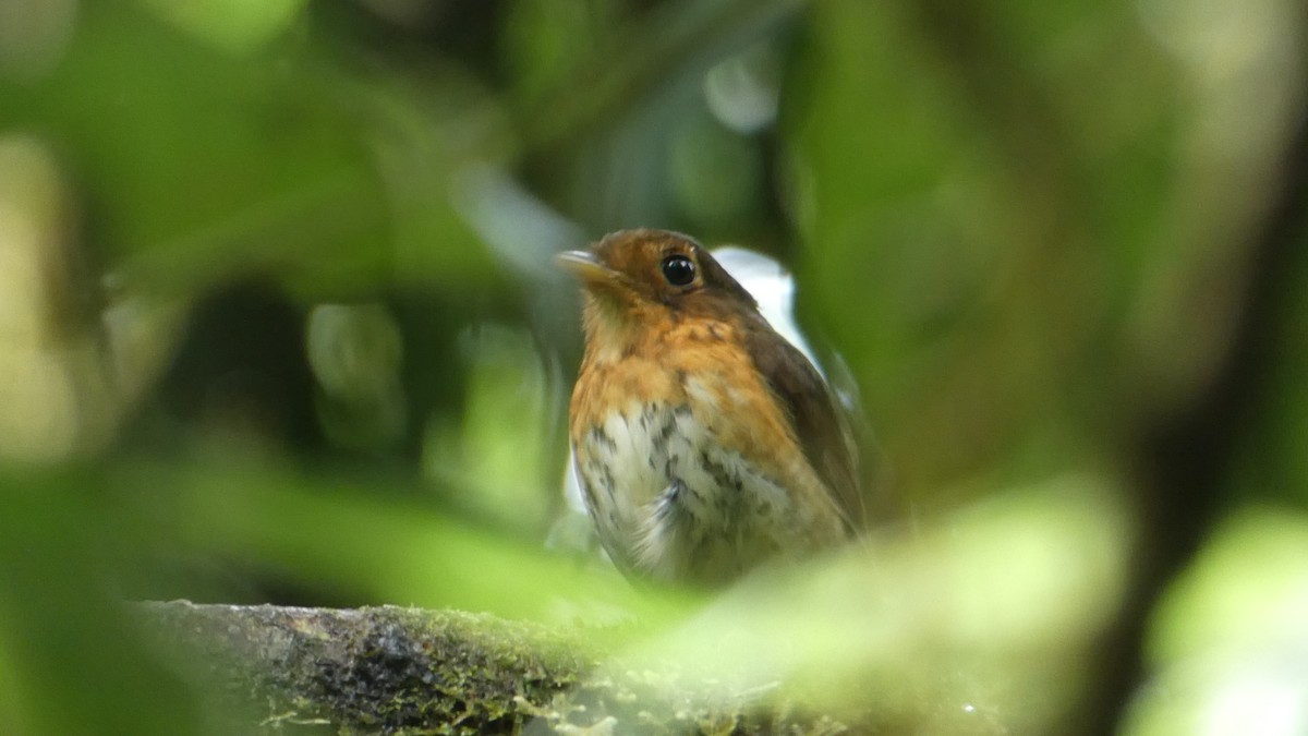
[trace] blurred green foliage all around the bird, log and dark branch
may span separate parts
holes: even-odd
[[[634,651],[893,732],[1070,732],[1173,521],[1203,546],[1144,591],[1126,729],[1303,732],[1304,16],[0,0],[0,732],[199,729],[122,612],[174,596],[636,612]],[[794,268],[893,466],[866,555],[701,612],[544,550],[579,351],[549,258],[640,225]],[[1182,458],[1220,471],[1141,513],[1144,437],[1249,314],[1249,409]]]

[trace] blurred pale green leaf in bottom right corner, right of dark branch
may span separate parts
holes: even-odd
[[[1308,517],[1248,509],[1177,580],[1152,627],[1156,677],[1130,735],[1308,728]]]

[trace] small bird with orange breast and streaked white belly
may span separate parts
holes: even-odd
[[[577,478],[624,572],[721,585],[863,529],[825,381],[701,245],[623,230],[559,259],[583,284]]]

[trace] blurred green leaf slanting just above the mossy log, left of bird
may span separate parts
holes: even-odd
[[[552,558],[539,543],[416,504],[383,500],[383,488],[315,481],[273,469],[222,473],[137,468],[123,492],[153,488],[148,507],[175,513],[192,553],[267,564],[351,591],[360,602],[485,610],[551,621],[593,605],[610,616],[658,622],[681,610],[679,596],[640,595],[616,571],[596,575]]]

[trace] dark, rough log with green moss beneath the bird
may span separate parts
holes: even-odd
[[[224,727],[254,733],[845,731],[757,693],[706,699],[676,672],[606,665],[583,629],[392,606],[174,601],[141,613],[169,656],[201,668]]]

